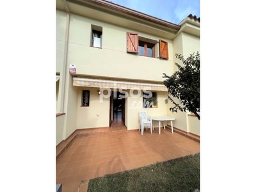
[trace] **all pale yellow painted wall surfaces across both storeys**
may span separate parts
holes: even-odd
[[[101,49],[90,47],[91,25],[102,27]],[[140,24],[137,23],[138,25]],[[141,27],[143,26],[141,25]],[[70,136],[76,129],[108,127],[109,125],[109,98],[104,99],[100,103],[99,95],[97,94],[99,88],[80,88],[73,86],[73,77],[68,73],[69,65],[76,65],[77,74],[81,75],[163,81],[163,72],[171,75],[177,70],[177,67],[174,65],[174,62],[177,61],[175,53],[188,56],[200,49],[200,39],[188,33],[182,32],[174,40],[170,40],[162,36],[152,35],[149,32],[143,33],[131,29],[132,25],[129,28],[124,28],[115,24],[70,13],[67,73],[64,93],[63,62],[66,28],[67,13],[56,10],[56,72],[60,73],[56,112],[66,113],[66,115],[56,118],[57,144]],[[127,32],[138,33],[139,36],[156,41],[162,39],[168,42],[169,60],[160,60],[159,58],[149,58],[127,53]],[[163,33],[159,34],[163,35]],[[89,107],[81,107],[82,90],[90,90]],[[61,101],[63,95],[65,95],[64,109],[60,111],[63,104]],[[166,92],[157,92],[158,108],[143,108],[142,105],[138,107],[139,102],[142,104],[142,95],[139,98],[128,97],[125,100],[125,125],[127,129],[138,129],[139,111],[145,110],[148,111],[149,116],[173,116],[176,118],[173,122],[174,127],[184,131],[191,131],[195,134],[198,132],[199,134],[199,121],[197,119],[196,121],[194,117],[188,117],[186,113],[180,111],[178,113],[170,112],[170,100],[168,100],[168,104],[165,104],[164,100],[166,98]],[[154,122],[154,126],[158,126],[157,122]]]

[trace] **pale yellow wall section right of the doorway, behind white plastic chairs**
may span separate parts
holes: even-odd
[[[157,92],[157,105],[158,108],[143,108],[142,95],[139,98],[128,97],[127,99],[127,129],[138,129],[139,112],[147,111],[148,116],[166,116],[166,99],[167,92]],[[154,122],[158,127],[158,122]]]

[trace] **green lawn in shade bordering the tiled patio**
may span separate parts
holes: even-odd
[[[195,191],[200,153],[90,180],[88,191]]]

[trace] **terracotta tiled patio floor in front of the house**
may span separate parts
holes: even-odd
[[[63,192],[77,192],[81,180],[200,151],[199,143],[167,129],[162,129],[160,135],[157,128],[152,134],[148,129],[143,136],[138,130],[127,131],[124,127],[91,129],[79,134],[57,160],[56,184],[62,183]],[[82,183],[79,191],[86,191],[87,186]]]

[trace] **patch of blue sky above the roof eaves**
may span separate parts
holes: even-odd
[[[190,13],[200,17],[200,0],[109,0],[132,10],[179,24]]]

